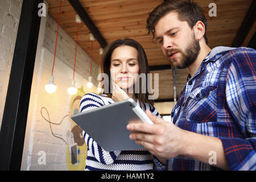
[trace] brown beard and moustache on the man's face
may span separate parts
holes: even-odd
[[[181,60],[180,60],[180,64],[174,64],[175,62],[177,62],[177,59],[170,59],[169,56],[169,52],[179,52],[181,53]],[[200,45],[199,45],[199,41],[196,40],[195,35],[192,34],[192,40],[189,43],[189,45],[187,46],[187,48],[185,48],[185,52],[181,51],[181,49],[168,49],[166,51],[166,55],[168,57],[168,60],[170,61],[171,67],[172,68],[176,68],[176,69],[184,69],[189,67],[192,63],[195,62],[197,56],[199,55],[200,52]]]

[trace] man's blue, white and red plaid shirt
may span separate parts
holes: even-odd
[[[220,138],[230,170],[256,170],[255,49],[212,49],[188,76],[171,117],[181,129]],[[160,170],[219,170],[183,155],[166,166],[154,160]]]

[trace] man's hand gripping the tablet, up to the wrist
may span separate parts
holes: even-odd
[[[154,125],[147,123],[130,123],[127,130],[133,131],[130,139],[137,144],[143,145],[147,150],[158,158],[170,159],[181,154],[184,130],[173,123],[152,114],[146,110],[146,114],[154,122]]]

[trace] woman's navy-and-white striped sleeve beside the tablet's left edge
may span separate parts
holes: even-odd
[[[80,101],[80,113],[92,109],[96,109],[97,107],[104,106],[104,101],[98,94],[88,93],[85,94]],[[98,160],[98,162],[102,164],[113,164],[114,160],[121,153],[121,151],[105,151],[104,148],[99,146],[96,141],[94,141],[90,136],[82,130],[82,134],[85,139],[85,143],[94,157]]]

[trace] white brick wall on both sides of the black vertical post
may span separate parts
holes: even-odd
[[[22,1],[0,0],[0,126],[21,8]],[[49,123],[42,118],[40,109],[43,106],[47,107],[51,122],[60,122],[64,115],[68,114],[71,96],[67,93],[67,89],[71,86],[73,78],[76,42],[63,28],[59,27],[53,72],[57,90],[54,94],[46,93],[44,85],[47,84],[49,76],[51,76],[57,22],[48,15],[44,25],[46,27],[43,35],[44,39],[39,39],[38,48],[40,50],[43,48],[45,55],[43,60],[40,60],[40,55],[38,55],[41,51],[38,51],[36,55],[21,169],[67,170],[67,144],[63,140],[53,137]],[[92,77],[94,86],[90,90],[86,88],[89,68],[90,56],[78,46],[75,73],[76,86],[77,88],[83,86],[85,92],[97,92],[97,75],[100,73],[100,66],[93,61]],[[71,130],[72,125],[73,123],[67,117],[61,125],[52,125],[53,133],[65,139],[65,134],[67,130]],[[39,151],[46,152],[46,165],[38,164]]]

